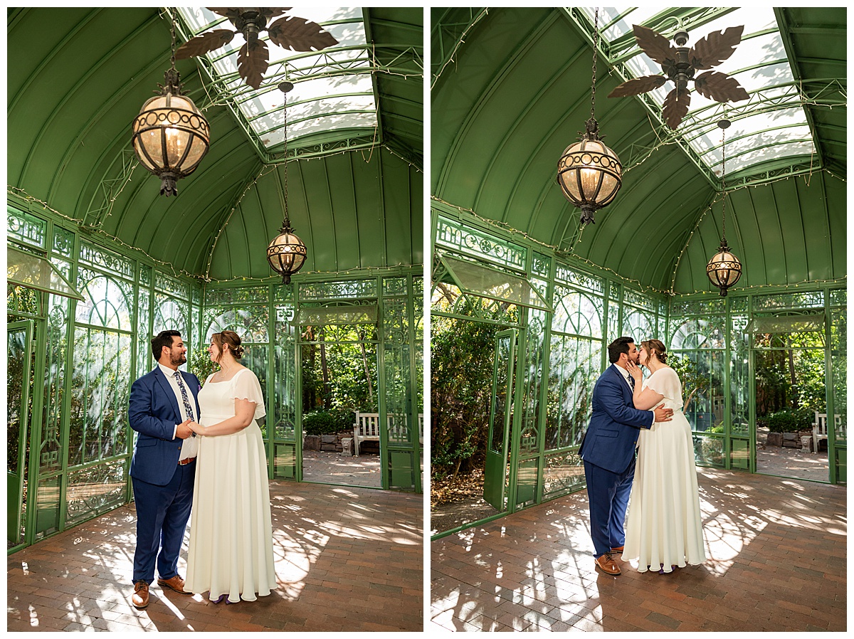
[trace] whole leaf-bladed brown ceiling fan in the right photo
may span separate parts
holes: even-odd
[[[662,116],[667,126],[673,130],[676,130],[687,114],[691,103],[689,80],[693,80],[695,91],[715,102],[738,102],[750,97],[738,80],[719,71],[706,71],[733,55],[735,47],[741,42],[744,26],[730,26],[725,31],[711,32],[691,49],[685,46],[688,41],[687,31],[676,32],[673,36],[676,47],[673,47],[670,40],[646,26],[632,25],[632,28],[635,30],[635,40],[640,49],[661,65],[664,75],[646,75],[630,79],[617,86],[608,97],[636,96],[658,89],[667,80],[672,81],[676,88],[664,98]],[[700,73],[695,78],[694,73],[697,71],[705,73]]]

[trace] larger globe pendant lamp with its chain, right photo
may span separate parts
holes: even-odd
[[[594,116],[596,105],[596,53],[599,49],[599,9],[594,17],[593,88],[590,119],[580,142],[564,149],[558,161],[558,184],[564,197],[582,209],[581,226],[595,224],[594,213],[608,206],[623,184],[623,165],[617,154],[605,146]]]

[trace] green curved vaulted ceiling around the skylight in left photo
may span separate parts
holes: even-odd
[[[376,126],[289,139],[287,173],[283,145],[260,144],[239,114],[238,97],[202,62],[177,61],[184,94],[210,123],[211,148],[196,172],[178,181],[178,196],[167,198],[159,195],[160,181],[137,166],[131,122],[163,84],[171,15],[152,8],[8,10],[10,192],[78,220],[93,237],[213,280],[274,274],[266,245],[282,224],[285,190],[291,224],[307,244],[304,273],[423,261],[422,9],[348,14],[364,23],[366,64],[357,75],[372,88]],[[178,18],[178,33],[187,30]],[[268,84],[262,90],[275,89]]]

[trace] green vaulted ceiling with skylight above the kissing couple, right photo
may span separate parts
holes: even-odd
[[[705,35],[704,26],[722,28],[717,24],[731,12],[659,8],[641,24],[672,37],[676,21],[668,18],[678,17],[692,33],[690,45]],[[591,113],[592,9],[433,9],[433,196],[643,286],[676,294],[714,290],[705,265],[721,239],[720,165],[705,162],[689,144],[697,131],[691,115],[683,123],[690,132],[672,132],[662,124],[660,100],[606,97],[633,77],[627,61],[639,50],[633,50],[631,15],[608,9],[604,16],[615,28],[600,41],[595,117],[623,163],[623,186],[596,212],[596,223],[579,228],[578,209],[555,180],[560,155]],[[791,69],[788,79],[780,73],[775,83],[750,86],[751,99],[728,108],[730,131],[741,129],[734,138],[760,134],[743,156],[763,145],[786,146],[737,170],[727,163],[725,230],[745,267],[739,288],[846,274],[845,8],[787,7],[772,17],[773,25],[746,24],[743,40],[759,43],[779,32],[766,58],[740,58],[740,45],[726,69],[750,81],[772,78],[786,58]],[[775,100],[774,91],[783,97]],[[711,124],[706,138],[718,145],[711,155],[719,158],[719,113],[707,110],[693,117]],[[798,135],[806,138],[782,144],[793,111],[804,123]],[[749,124],[760,112],[767,118],[763,131]]]

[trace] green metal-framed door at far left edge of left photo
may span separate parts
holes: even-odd
[[[21,520],[26,484],[32,331],[33,323],[29,319],[13,322],[7,327],[6,521],[10,545],[23,541]]]

